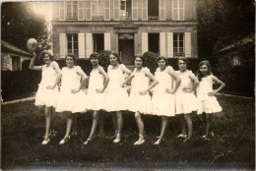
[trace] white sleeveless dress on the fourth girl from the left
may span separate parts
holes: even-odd
[[[108,112],[128,109],[128,93],[126,88],[121,86],[125,81],[123,68],[125,68],[123,64],[116,69],[113,69],[111,65],[107,68],[109,82],[105,89],[104,110]]]

